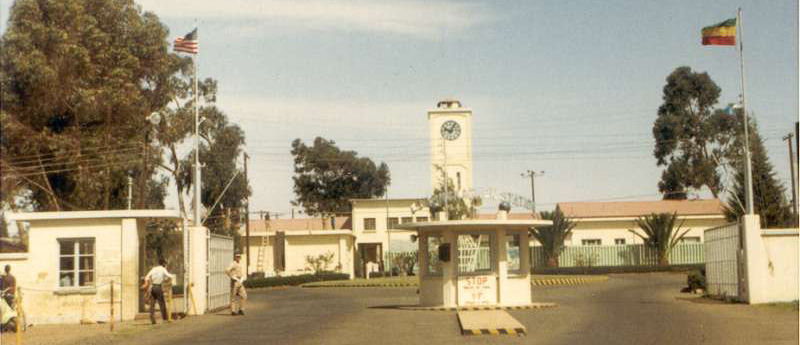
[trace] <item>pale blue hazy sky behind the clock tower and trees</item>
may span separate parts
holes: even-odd
[[[0,3],[5,31],[12,2]],[[719,107],[736,101],[736,49],[702,46],[700,29],[738,6],[748,109],[790,188],[782,137],[798,120],[796,1],[137,3],[171,38],[198,20],[199,75],[218,80],[217,105],[245,131],[251,211],[291,212],[290,143],[317,136],[386,162],[391,198],[429,195],[426,111],[444,98],[473,110],[477,190],[528,196],[520,174],[530,169],[545,172],[540,210],[658,200],[651,130],[665,78],[705,71]]]

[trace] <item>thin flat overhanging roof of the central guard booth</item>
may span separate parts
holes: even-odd
[[[399,230],[415,230],[418,232],[442,231],[442,230],[497,230],[505,228],[511,230],[528,230],[532,227],[543,227],[553,225],[553,221],[540,219],[465,219],[406,223],[397,226]]]

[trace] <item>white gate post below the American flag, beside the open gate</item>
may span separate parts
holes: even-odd
[[[207,309],[208,229],[202,226],[187,227],[190,236],[191,286],[195,305],[189,306],[191,315],[202,315]],[[194,308],[197,308],[196,310]],[[187,313],[189,314],[189,313]]]

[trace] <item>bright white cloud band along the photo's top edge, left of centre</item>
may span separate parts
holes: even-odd
[[[161,17],[196,18],[201,21],[256,21],[299,28],[367,31],[418,37],[457,34],[493,17],[486,5],[450,0],[139,0],[137,2],[144,10],[152,11]]]

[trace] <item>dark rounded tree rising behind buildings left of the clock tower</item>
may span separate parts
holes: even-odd
[[[391,182],[389,166],[380,165],[355,151],[342,151],[333,140],[321,137],[306,146],[292,142],[294,193],[292,205],[309,216],[330,217],[350,212],[349,199],[381,197]]]

